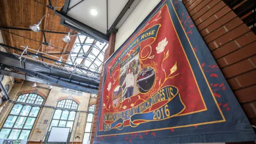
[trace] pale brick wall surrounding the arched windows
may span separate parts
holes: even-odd
[[[51,106],[42,107],[39,111],[34,127],[31,130],[28,143],[39,143],[40,141],[44,141],[45,135],[49,130],[49,126],[51,124],[51,119],[54,112],[54,108],[52,107],[56,107],[58,101],[63,99],[72,99],[78,103],[78,112],[76,113],[70,142],[72,142],[73,138],[75,137],[74,142],[82,143],[87,118],[86,111],[88,110],[88,107],[90,105],[96,103],[97,99],[91,98],[91,94],[89,93],[79,93],[79,95],[74,95],[65,91],[61,91],[62,88],[60,87],[53,86],[53,88],[50,90],[48,88],[48,85],[37,84],[37,87],[32,87],[31,85],[33,85],[33,82],[25,81],[22,83],[15,83],[13,89],[10,91],[9,94],[10,100],[16,101],[18,96],[21,94],[36,93],[44,98],[44,106]],[[6,102],[6,105],[3,106],[3,110],[0,113],[0,127],[2,127],[2,125],[4,124],[6,117],[12,109],[12,106],[13,103],[11,102]],[[47,123],[44,123],[45,120],[47,121]],[[79,123],[78,126],[77,123]]]

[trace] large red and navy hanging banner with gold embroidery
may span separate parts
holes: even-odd
[[[106,61],[94,143],[254,140],[181,1],[161,1]]]

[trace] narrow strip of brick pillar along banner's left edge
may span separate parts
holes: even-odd
[[[112,33],[109,37],[108,48],[105,51],[103,61],[106,61],[110,57],[110,55],[114,53],[114,51],[115,51],[115,41],[116,41],[116,34]],[[93,119],[93,124],[92,124],[92,134],[91,134],[90,143],[92,143],[93,140],[94,140],[94,134],[95,134],[95,129],[96,129],[96,125],[97,125],[97,116],[98,116],[98,110],[99,110],[99,105],[100,105],[100,97],[101,97],[102,78],[103,77],[101,76],[100,85],[99,85],[99,92],[98,92],[97,101],[96,101],[96,109],[95,109],[94,119]]]

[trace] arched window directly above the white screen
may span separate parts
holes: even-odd
[[[70,127],[70,131],[73,128],[73,124],[76,117],[76,111],[78,108],[77,103],[74,100],[61,100],[57,103],[57,108],[63,108],[63,109],[56,109],[54,111],[52,122],[49,127],[49,130],[51,130],[52,126],[58,126],[58,127]]]

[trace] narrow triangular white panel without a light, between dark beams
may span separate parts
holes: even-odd
[[[128,1],[129,0],[108,0],[108,29],[115,22]]]

